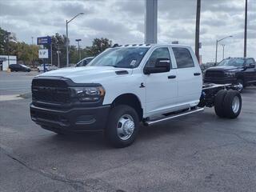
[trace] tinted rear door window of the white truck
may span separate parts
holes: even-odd
[[[194,62],[189,50],[182,47],[173,47],[173,50],[178,68],[194,67]]]

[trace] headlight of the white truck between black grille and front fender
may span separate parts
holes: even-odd
[[[72,96],[78,98],[80,102],[97,102],[105,95],[102,86],[72,87],[71,92]]]

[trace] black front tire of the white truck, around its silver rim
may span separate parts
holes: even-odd
[[[121,123],[120,119],[122,117],[126,118],[126,116],[129,116],[132,118],[132,120],[130,120],[130,118],[127,118],[127,121],[130,120],[134,123],[134,126],[133,126],[134,130],[132,134],[130,134],[130,136],[128,135],[129,138],[125,138],[127,137],[127,135],[125,134],[123,134],[124,136],[123,138],[121,138],[122,134],[118,134],[118,129],[122,129],[122,128],[118,128],[118,126],[120,126],[120,123]],[[106,130],[105,130],[106,140],[112,146],[117,148],[130,146],[134,142],[138,134],[139,120],[138,120],[137,112],[134,110],[134,108],[130,106],[120,105],[120,106],[115,106],[111,110],[109,117],[110,117],[109,122],[107,123]],[[125,125],[125,123],[123,124]],[[121,126],[123,126],[122,123],[121,123]]]

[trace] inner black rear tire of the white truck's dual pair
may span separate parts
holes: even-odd
[[[219,90],[214,98],[214,110],[215,114],[217,114],[219,118],[226,118],[226,114],[224,112],[224,98],[226,94],[227,90]]]

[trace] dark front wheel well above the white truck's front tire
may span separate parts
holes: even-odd
[[[138,113],[138,117],[140,120],[143,118],[143,109],[141,102],[139,101],[138,97],[134,94],[121,94],[118,96],[118,98],[114,99],[114,102],[112,102],[112,107],[118,106],[118,105],[127,105],[131,106],[136,110]]]

